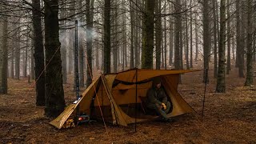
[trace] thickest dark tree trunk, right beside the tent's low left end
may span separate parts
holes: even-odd
[[[47,117],[56,117],[65,107],[62,85],[62,60],[58,35],[58,0],[46,0],[45,48],[46,48],[46,108]]]

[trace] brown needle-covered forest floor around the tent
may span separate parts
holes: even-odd
[[[175,117],[174,122],[138,123],[136,133],[134,125],[105,128],[102,122],[58,130],[48,123],[44,108],[35,106],[34,83],[8,79],[8,94],[0,95],[0,143],[256,143],[256,86],[244,87],[245,78],[232,69],[225,94],[214,93],[210,70],[203,118],[203,71],[183,74],[178,90],[197,114]],[[64,88],[67,105],[75,98],[69,82]]]

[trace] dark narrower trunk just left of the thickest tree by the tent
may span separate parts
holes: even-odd
[[[36,79],[36,105],[45,106],[45,64],[44,64],[44,50],[42,43],[42,23],[41,23],[41,13],[40,13],[40,0],[33,0],[32,5],[34,9],[33,14],[33,28],[34,28],[34,64],[35,67],[35,79]]]

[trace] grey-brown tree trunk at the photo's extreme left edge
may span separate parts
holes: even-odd
[[[8,69],[8,18],[7,16],[2,16],[2,39],[0,42],[0,94],[7,94],[7,69]],[[1,23],[0,23],[1,24]],[[1,26],[0,26],[1,27]]]

